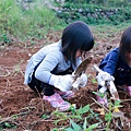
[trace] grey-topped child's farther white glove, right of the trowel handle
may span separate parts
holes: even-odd
[[[75,80],[72,86],[79,90],[79,87],[84,87],[86,83],[87,83],[87,76],[85,73],[83,73],[80,78]]]

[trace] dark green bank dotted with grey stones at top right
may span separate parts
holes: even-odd
[[[66,2],[57,12],[58,17],[64,20],[66,23],[78,20],[92,25],[131,23],[131,2],[127,1],[123,4],[122,0],[118,2],[106,0],[104,4],[100,1],[98,4],[93,2],[88,4],[87,2],[82,3],[83,0],[78,0],[75,3],[74,1]],[[112,3],[115,4],[112,5]]]

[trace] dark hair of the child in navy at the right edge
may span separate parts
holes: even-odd
[[[129,26],[122,34],[120,40],[120,57],[124,62],[130,62],[131,53],[131,26]]]

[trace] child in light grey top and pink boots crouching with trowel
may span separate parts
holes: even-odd
[[[25,81],[33,91],[44,92],[44,100],[59,110],[67,110],[70,104],[62,98],[74,95],[71,91],[72,72],[82,62],[81,57],[94,46],[94,37],[87,24],[74,22],[67,26],[61,40],[43,47],[32,56],[25,71]],[[85,86],[86,74],[80,78],[78,86]]]

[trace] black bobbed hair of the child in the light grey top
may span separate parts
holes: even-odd
[[[62,53],[75,64],[76,51],[91,50],[94,46],[94,37],[87,24],[78,21],[64,28],[61,43]]]

